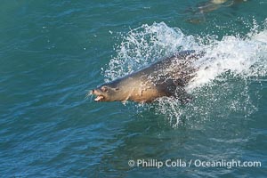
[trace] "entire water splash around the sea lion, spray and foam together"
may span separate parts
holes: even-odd
[[[266,24],[266,22],[265,22]],[[179,125],[182,118],[228,117],[231,113],[247,117],[255,110],[250,85],[260,82],[267,71],[267,30],[254,28],[245,37],[185,36],[179,28],[169,28],[164,22],[132,29],[117,46],[117,56],[104,71],[106,82],[123,77],[137,69],[184,50],[205,52],[193,65],[197,70],[186,91],[194,100],[186,106],[173,98],[160,98],[154,107],[170,125]],[[140,106],[140,105],[139,105]]]

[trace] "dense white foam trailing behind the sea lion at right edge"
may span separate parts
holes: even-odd
[[[255,36],[266,37],[264,33]],[[196,62],[197,77],[190,82],[188,89],[206,85],[227,71],[239,77],[265,76],[267,43],[258,41],[255,36],[245,39],[223,36],[221,41],[214,40],[208,44],[205,56]]]

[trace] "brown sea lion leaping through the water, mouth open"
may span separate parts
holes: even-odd
[[[125,77],[101,85],[91,91],[94,101],[151,102],[159,97],[173,96],[182,102],[190,101],[184,86],[194,76],[191,63],[199,53],[185,51],[175,53],[149,67],[135,71]]]

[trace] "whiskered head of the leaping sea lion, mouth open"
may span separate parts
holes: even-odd
[[[95,95],[94,101],[123,101],[119,93],[119,88],[109,84],[104,84],[91,91]]]

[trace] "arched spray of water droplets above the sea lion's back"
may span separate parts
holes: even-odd
[[[132,29],[117,46],[117,57],[111,59],[104,74],[106,82],[123,77],[153,61],[182,50],[198,49],[193,36],[181,29],[169,28],[164,22]]]

